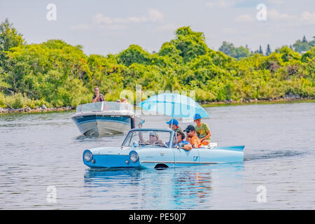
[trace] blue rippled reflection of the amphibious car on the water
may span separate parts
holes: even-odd
[[[209,209],[216,177],[224,176],[227,169],[230,177],[235,175],[241,181],[242,164],[162,170],[87,169],[84,188],[91,195],[103,197],[99,200],[104,206],[107,198],[119,197],[124,203],[137,205],[134,209]],[[125,188],[128,191],[122,190]],[[124,209],[124,205],[118,203],[116,209]]]

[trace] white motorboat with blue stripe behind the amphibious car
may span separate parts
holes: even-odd
[[[118,102],[81,104],[72,120],[84,135],[125,134],[135,127],[134,106]]]

